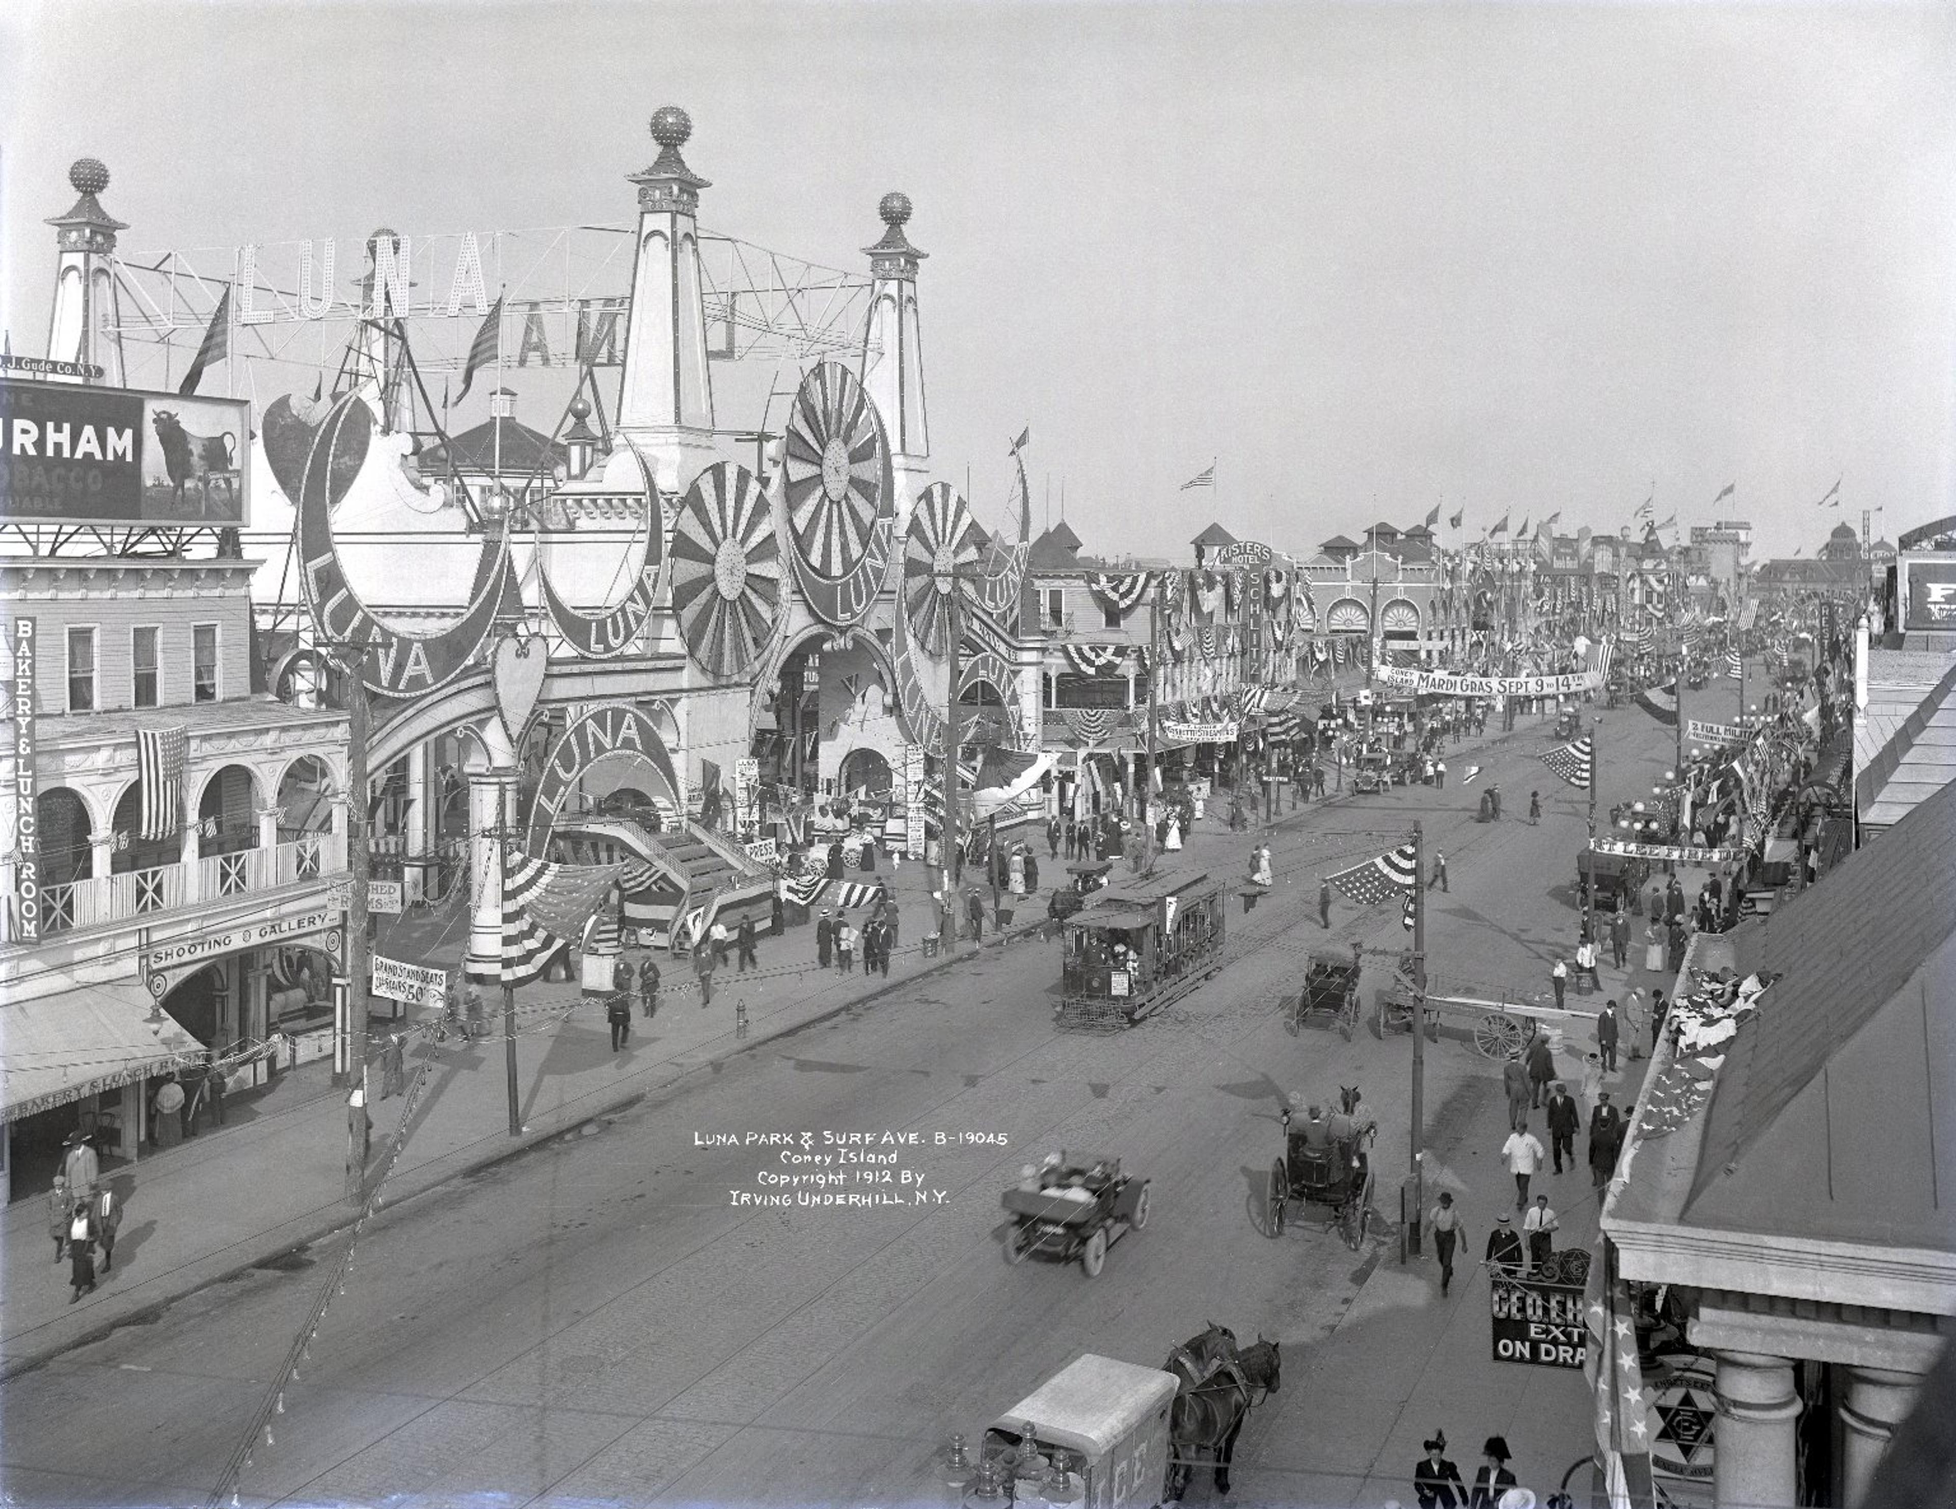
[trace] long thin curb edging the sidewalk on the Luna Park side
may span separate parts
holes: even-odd
[[[896,991],[904,989],[906,985],[937,975],[949,970],[953,964],[958,964],[960,960],[974,958],[978,952],[986,948],[1003,948],[1013,940],[1029,938],[1031,934],[1039,932],[1039,928],[1045,927],[1045,921],[1046,919],[1041,917],[1037,923],[1015,923],[1011,928],[988,938],[970,954],[958,954],[958,952],[941,954],[935,964],[927,964],[915,973],[904,975],[902,979],[890,979],[878,985],[876,989],[868,991],[867,995],[859,995],[853,1001],[841,1001],[802,1022],[790,1022],[771,1032],[747,1038],[745,1042],[735,1042],[722,1054],[710,1054],[698,1063],[685,1065],[675,1079],[667,1081],[659,1089],[671,1089],[673,1085],[679,1085],[685,1079],[690,1079],[692,1075],[700,1073],[710,1063],[720,1063],[739,1054],[751,1054],[753,1050],[765,1048],[767,1044],[780,1042],[782,1038],[792,1038],[796,1032],[806,1032],[812,1026],[822,1026],[823,1022],[841,1016],[847,1011],[857,1011],[861,1007],[874,1005],[876,1001],[882,1001],[888,995],[894,995]],[[520,1138],[511,1138],[507,1143],[499,1143],[491,1149],[481,1149],[473,1157],[467,1155],[458,1157],[452,1165],[440,1167],[438,1171],[432,1173],[432,1177],[426,1177],[421,1183],[413,1183],[415,1175],[407,1175],[405,1179],[411,1181],[411,1186],[403,1188],[399,1194],[389,1196],[379,1208],[376,1208],[374,1214],[376,1218],[383,1218],[411,1200],[434,1194],[436,1190],[440,1190],[442,1186],[450,1185],[456,1179],[462,1179],[471,1173],[481,1173],[485,1169],[493,1169],[503,1163],[511,1163],[512,1159],[524,1157],[526,1153],[536,1151],[544,1143],[561,1138],[565,1132],[577,1126],[595,1122],[602,1116],[616,1116],[622,1110],[630,1110],[632,1106],[636,1106],[640,1100],[644,1100],[647,1095],[653,1093],[655,1093],[653,1089],[645,1087],[620,1089],[618,1095],[604,1097],[602,1100],[593,1100],[589,1106],[579,1106],[577,1114],[573,1116],[556,1116],[554,1112],[546,1112],[546,1118],[552,1118],[548,1126],[538,1124],[536,1128],[524,1128]],[[419,1173],[428,1173],[436,1165],[432,1163],[422,1165]],[[33,1351],[22,1351],[6,1358],[0,1358],[0,1384],[8,1384],[14,1378],[20,1378],[22,1374],[27,1372],[35,1372],[37,1368],[47,1366],[65,1353],[76,1351],[80,1347],[92,1347],[98,1341],[106,1341],[110,1335],[121,1331],[127,1325],[151,1325],[156,1319],[160,1319],[162,1312],[166,1312],[172,1304],[178,1304],[180,1300],[186,1300],[192,1294],[200,1294],[207,1288],[215,1288],[217,1284],[227,1284],[235,1278],[241,1278],[252,1272],[254,1269],[262,1269],[280,1257],[288,1257],[307,1247],[313,1247],[321,1241],[327,1241],[338,1235],[340,1231],[352,1228],[352,1224],[358,1220],[360,1212],[352,1210],[352,1206],[342,1206],[331,1218],[321,1218],[315,1226],[301,1229],[301,1233],[295,1237],[282,1235],[276,1241],[262,1241],[258,1247],[248,1249],[248,1253],[239,1255],[237,1261],[229,1263],[219,1272],[190,1278],[168,1292],[145,1298],[145,1302],[135,1306],[133,1310],[121,1312],[117,1315],[108,1315],[100,1321],[92,1321],[78,1335],[63,1337],[61,1341],[49,1341],[47,1345],[37,1347]]]

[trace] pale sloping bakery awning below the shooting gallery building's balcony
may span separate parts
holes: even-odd
[[[141,985],[74,985],[0,1007],[0,1122],[201,1063],[203,1046]]]

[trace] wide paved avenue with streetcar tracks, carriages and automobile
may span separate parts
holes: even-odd
[[[976,1437],[1082,1351],[1154,1364],[1209,1319],[1283,1343],[1289,1386],[1244,1433],[1238,1495],[1356,1491],[1363,1468],[1340,1466],[1346,1443],[1324,1433],[1383,1441],[1391,1421],[1350,1419],[1336,1407],[1350,1390],[1311,1358],[1373,1269],[1399,1263],[1410,1042],[1363,1028],[1350,1044],[1318,1026],[1293,1036],[1277,1003],[1326,944],[1318,876],[1391,846],[1414,817],[1451,874],[1451,891],[1432,897],[1436,968],[1547,993],[1551,948],[1575,946],[1584,833],[1582,799],[1535,758],[1549,727],[1524,719],[1500,743],[1449,751],[1444,792],[1346,798],[1287,819],[1273,835],[1275,895],[1248,915],[1230,895],[1230,966],[1131,1032],[1056,1034],[1058,944],[990,948],[391,1210],[362,1241],[274,1443],[256,1446],[243,1503],[935,1499],[931,1456],[949,1433]],[[1604,715],[1602,807],[1647,794],[1670,737],[1633,708]],[[1473,764],[1487,766],[1481,782],[1500,780],[1506,821],[1473,821],[1479,784],[1461,786]],[[1535,788],[1547,815],[1530,827]],[[1244,837],[1199,844],[1193,858],[1211,870],[1242,870]],[[1340,899],[1330,942],[1352,940],[1402,948],[1399,907],[1359,913]],[[1387,973],[1383,960],[1367,966],[1367,1003]],[[1379,1233],[1361,1253],[1314,1226],[1267,1239],[1279,1106],[1330,1104],[1354,1083],[1381,1120]],[[1498,1138],[1485,1134],[1496,1099],[1489,1059],[1453,1040],[1430,1050],[1436,1165],[1473,1196],[1471,1249],[1506,1185]],[[782,1167],[775,1149],[700,1145],[767,1132],[820,1145],[825,1130],[917,1134],[898,1171],[929,1202],[735,1206],[732,1190]],[[1003,1261],[1000,1190],[1060,1147],[1117,1153],[1152,1179],[1148,1228],[1093,1280]],[[1580,1239],[1594,1212],[1588,1181],[1571,1183],[1580,1188],[1557,1198]],[[317,1249],[203,1290],[12,1380],[0,1396],[10,1501],[201,1503],[333,1257]],[[1402,1280],[1408,1302],[1440,1304],[1428,1269]],[[1551,1382],[1580,1390],[1580,1374]],[[1463,1400],[1459,1417],[1471,1411]],[[1543,1444],[1541,1466],[1582,1450],[1567,1446]],[[1195,1497],[1207,1491],[1203,1478]]]

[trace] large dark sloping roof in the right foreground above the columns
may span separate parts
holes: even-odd
[[[1735,936],[1780,973],[1731,1040],[1682,1220],[1956,1251],[1956,786]]]

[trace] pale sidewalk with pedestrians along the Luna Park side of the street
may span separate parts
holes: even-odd
[[[761,938],[761,968],[732,968],[714,981],[712,1007],[700,1007],[698,985],[685,960],[665,968],[659,1014],[634,1014],[632,1038],[612,1054],[604,1011],[581,1003],[575,985],[530,985],[516,991],[516,1083],[522,1136],[509,1134],[509,1097],[501,1013],[491,1038],[430,1042],[417,1024],[372,1018],[376,1097],[374,1161],[399,1124],[401,1099],[379,1100],[379,1044],[387,1032],[411,1028],[409,1083],[422,1063],[428,1081],[407,1145],[387,1185],[387,1204],[422,1194],[469,1169],[505,1159],[595,1116],[661,1091],[685,1075],[732,1054],[818,1022],[968,956],[923,958],[929,930],[921,893],[923,866],[906,864],[884,880],[902,901],[902,946],[890,975],[823,971],[814,964],[814,928],[790,928]],[[1064,872],[1062,872],[1064,874]],[[1045,903],[1027,899],[1017,938],[1045,921]],[[994,946],[996,936],[986,938]],[[383,1003],[378,1003],[383,1005]],[[747,1030],[735,1026],[745,1005]],[[102,1286],[70,1304],[68,1265],[53,1263],[47,1208],[39,1196],[6,1210],[0,1261],[0,1378],[90,1341],[196,1288],[282,1253],[317,1241],[358,1214],[346,1200],[346,1091],[331,1083],[331,1065],[307,1063],[274,1085],[231,1097],[229,1124],[205,1130],[180,1147],[145,1153],[108,1173],[123,1204],[115,1269]]]

